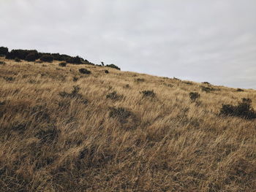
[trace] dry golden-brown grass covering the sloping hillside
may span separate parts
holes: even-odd
[[[0,191],[256,191],[256,120],[219,115],[256,91],[0,61]]]

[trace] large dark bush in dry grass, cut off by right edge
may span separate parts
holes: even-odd
[[[252,109],[252,100],[246,98],[242,99],[241,102],[238,102],[236,106],[231,104],[222,104],[220,115],[236,116],[248,120],[256,118],[256,112]]]

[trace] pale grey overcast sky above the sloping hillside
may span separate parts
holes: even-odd
[[[0,46],[256,89],[255,0],[0,0]]]

